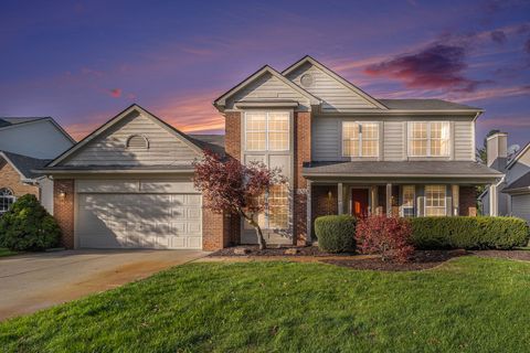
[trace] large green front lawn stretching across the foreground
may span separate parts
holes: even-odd
[[[8,352],[528,352],[530,264],[189,264],[0,324]]]

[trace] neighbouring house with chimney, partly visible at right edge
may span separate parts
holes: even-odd
[[[508,133],[497,132],[487,138],[488,167],[505,174],[501,181],[480,195],[483,212],[513,215],[530,222],[530,142],[508,156]]]

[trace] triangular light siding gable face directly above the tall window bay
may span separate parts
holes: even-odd
[[[306,108],[309,107],[309,100],[299,92],[289,85],[274,77],[269,73],[265,73],[241,89],[233,97],[226,100],[226,109],[232,109],[234,103],[239,100],[266,100],[266,99],[293,99],[298,101]]]

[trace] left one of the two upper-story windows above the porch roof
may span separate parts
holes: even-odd
[[[378,157],[379,124],[378,122],[342,122],[342,156],[343,157]]]

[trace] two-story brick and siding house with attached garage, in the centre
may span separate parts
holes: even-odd
[[[282,168],[259,223],[268,243],[308,244],[325,214],[475,215],[477,185],[502,173],[475,160],[481,109],[375,99],[310,56],[266,65],[214,100],[224,153]],[[236,215],[202,208],[192,161],[221,141],[132,105],[44,169],[67,247],[202,248],[256,242]]]

